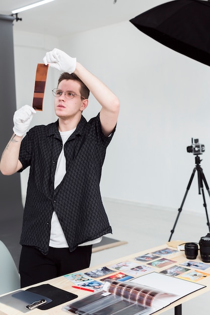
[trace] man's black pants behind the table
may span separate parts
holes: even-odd
[[[74,252],[50,247],[47,255],[31,246],[23,246],[19,264],[21,287],[88,268],[91,254],[92,245],[79,246]]]

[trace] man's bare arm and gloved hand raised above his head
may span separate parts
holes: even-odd
[[[62,50],[54,48],[47,52],[43,58],[44,63],[60,71],[72,73],[79,76],[90,92],[101,104],[100,120],[105,135],[109,135],[116,123],[119,114],[118,98],[105,86],[95,75],[90,73],[76,58],[68,56]]]

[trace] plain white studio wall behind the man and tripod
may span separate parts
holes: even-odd
[[[210,185],[210,69],[138,31],[129,21],[52,38],[14,32],[17,107],[32,104],[36,65],[54,47],[64,50],[98,76],[119,97],[116,134],[103,167],[103,197],[178,209],[195,167],[191,138],[205,145],[201,167]],[[54,121],[51,90],[59,72],[49,68],[44,111],[32,125]],[[91,96],[84,116],[100,106]],[[11,117],[12,119],[12,117]],[[22,174],[26,194],[27,172]],[[204,188],[207,206],[210,202]],[[183,209],[204,213],[197,173]]]

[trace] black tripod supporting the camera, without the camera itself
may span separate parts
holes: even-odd
[[[189,189],[190,189],[190,186],[191,186],[191,184],[192,184],[192,180],[193,180],[193,177],[194,177],[196,171],[197,171],[197,179],[198,179],[198,194],[200,195],[200,190],[201,190],[202,196],[203,196],[203,207],[205,208],[205,214],[206,214],[206,219],[207,219],[207,223],[206,223],[206,224],[207,224],[208,230],[209,230],[209,232],[210,232],[209,220],[208,220],[208,212],[207,212],[207,207],[206,207],[206,203],[205,203],[205,195],[204,195],[204,191],[203,191],[203,183],[205,184],[205,188],[206,188],[206,190],[207,190],[207,192],[208,192],[209,197],[210,197],[210,191],[209,191],[208,184],[207,184],[207,182],[206,182],[205,176],[204,176],[204,174],[203,174],[202,168],[200,167],[200,162],[201,162],[201,161],[202,161],[202,160],[200,160],[200,157],[198,156],[198,154],[196,154],[196,155],[195,155],[195,165],[196,165],[196,166],[195,166],[195,168],[193,169],[192,175],[191,175],[190,180],[189,180],[189,183],[188,183],[188,185],[187,185],[187,189],[186,189],[184,198],[183,198],[183,200],[182,200],[182,203],[181,203],[180,208],[178,209],[178,215],[177,215],[177,217],[176,217],[174,226],[173,226],[173,228],[172,228],[172,230],[171,230],[171,235],[170,235],[170,238],[169,238],[169,242],[171,241],[171,238],[172,238],[174,229],[175,229],[175,227],[176,227],[176,223],[177,223],[177,221],[178,221],[178,219],[179,219],[179,216],[180,216],[180,214],[181,214],[182,207],[183,207],[183,205],[184,205],[184,201],[185,201],[185,199],[186,199],[186,197],[187,197],[187,193],[188,193],[188,191],[189,191]]]

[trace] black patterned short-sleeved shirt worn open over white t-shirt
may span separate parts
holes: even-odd
[[[55,210],[70,251],[112,232],[101,200],[100,179],[111,136],[101,128],[100,113],[89,122],[82,116],[64,144],[66,174],[54,189],[56,163],[62,149],[58,121],[31,128],[21,143],[19,160],[30,166],[21,245],[48,253],[50,222]]]

